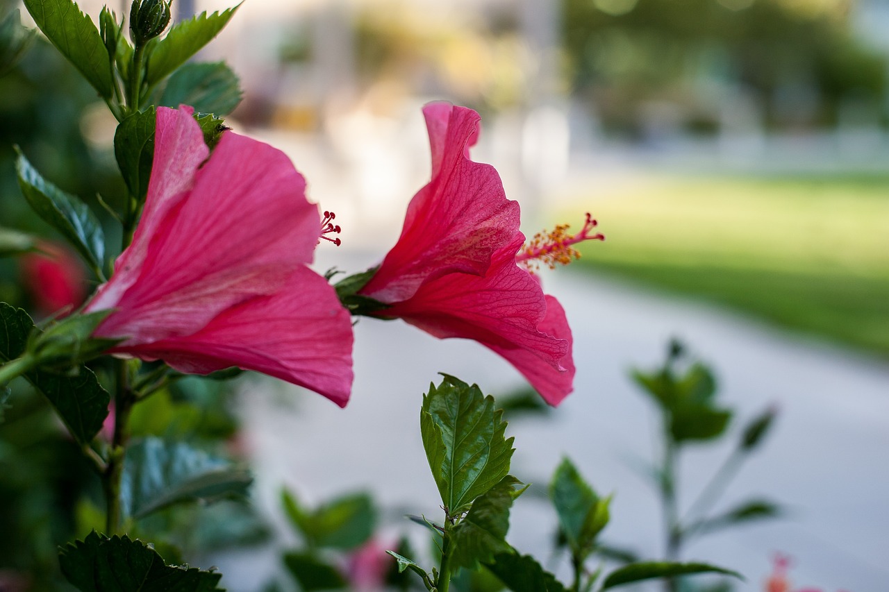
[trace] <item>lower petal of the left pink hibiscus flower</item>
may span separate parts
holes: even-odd
[[[192,335],[121,351],[163,359],[180,372],[254,370],[346,406],[352,386],[351,317],[323,277],[297,268],[280,292],[229,308]]]

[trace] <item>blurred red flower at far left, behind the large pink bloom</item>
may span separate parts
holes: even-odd
[[[86,298],[84,266],[64,247],[47,242],[37,246],[39,252],[20,259],[23,283],[36,311],[48,316],[79,307]]]

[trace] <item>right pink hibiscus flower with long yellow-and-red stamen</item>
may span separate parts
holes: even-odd
[[[388,305],[377,316],[491,348],[557,405],[573,390],[571,329],[558,301],[518,265],[525,236],[517,202],[492,166],[469,159],[480,117],[447,103],[427,105],[423,114],[432,180],[413,197],[398,242],[359,294]],[[600,237],[589,228],[571,241]]]

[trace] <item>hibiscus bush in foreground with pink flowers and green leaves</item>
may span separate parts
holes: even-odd
[[[20,433],[28,443],[20,451],[40,444],[61,460],[42,465],[41,491],[55,500],[46,508],[62,508],[67,522],[50,517],[42,548],[70,537],[58,557],[53,551],[10,565],[34,574],[33,589],[220,589],[219,572],[183,563],[188,541],[201,547],[207,529],[214,534],[204,541],[261,534],[244,518],[249,512],[224,509],[225,500],[244,500],[252,482],[232,450],[236,418],[225,409],[226,384],[260,372],[345,406],[356,316],[476,340],[514,365],[547,404],[572,392],[571,329],[533,270],[567,262],[574,244],[603,236],[588,214],[577,234],[557,227],[526,244],[518,204],[493,167],[469,157],[476,112],[444,102],[423,109],[431,180],[408,204],[395,246],[374,268],[322,275],[310,265],[319,244],[340,244],[335,214],[308,200],[306,181],[283,152],[225,124],[241,96],[228,66],[189,61],[236,9],[171,28],[166,0],[134,0],[126,19],[105,8],[98,26],[70,0],[25,6],[116,117],[124,192],[98,198],[100,217],[44,178],[25,151],[15,159],[24,200],[68,245],[0,229],[0,252],[20,256],[28,282],[45,296],[43,308],[31,310],[43,315],[37,323],[24,308],[0,303],[0,411],[23,426],[31,406],[42,410],[34,414],[39,429]],[[4,20],[0,33],[9,37],[0,50],[12,63],[31,34],[17,18]],[[77,292],[84,276],[98,286],[85,301]],[[442,515],[416,522],[435,542],[435,565],[404,545],[373,543],[374,509],[363,494],[308,509],[285,493],[306,547],[284,562],[302,589],[348,586],[330,553],[358,547],[388,561],[394,586],[438,592],[452,580],[474,589],[484,577],[530,592],[733,573],[669,561],[629,562],[607,574],[589,569],[609,499],[565,460],[549,487],[574,566],[573,580],[560,583],[506,542],[509,509],[527,485],[510,468],[514,441],[493,397],[445,375],[421,401],[418,394],[418,404]],[[46,421],[48,414],[58,420]],[[55,447],[42,448],[44,439]],[[189,503],[196,500],[205,504]],[[28,511],[43,514],[31,501]],[[26,517],[16,532],[28,532]],[[473,575],[480,573],[487,575]]]

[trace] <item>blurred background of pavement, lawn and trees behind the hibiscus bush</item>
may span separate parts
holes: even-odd
[[[79,4],[95,20],[103,3]],[[628,468],[653,454],[653,411],[628,370],[653,367],[677,335],[739,413],[778,405],[738,494],[793,508],[689,558],[738,568],[749,576],[739,589],[754,590],[783,551],[800,584],[864,592],[889,588],[887,31],[889,0],[248,0],[199,59],[228,60],[241,78],[227,124],[284,149],[310,198],[337,213],[344,244],[320,250],[322,271],[364,269],[395,243],[428,180],[420,107],[477,109],[473,156],[501,172],[527,235],[579,229],[589,211],[607,237],[544,274],[573,324],[578,384],[545,420],[515,422],[520,478],[526,468],[544,484],[572,456],[616,492],[613,538],[660,553],[656,505]],[[0,225],[46,233],[19,196],[12,144],[72,193],[120,193],[115,124],[38,40],[0,79]],[[21,278],[0,259],[0,300],[28,300]],[[272,516],[282,484],[312,500],[361,486],[390,508],[434,500],[415,433],[428,381],[444,371],[494,393],[521,384],[474,344],[366,321],[356,331],[345,412],[243,385],[244,445]],[[356,430],[375,445],[351,444]],[[690,457],[690,489],[711,456]],[[527,510],[514,544],[542,553],[551,524]],[[212,560],[235,590],[259,589],[252,570],[278,563]]]

